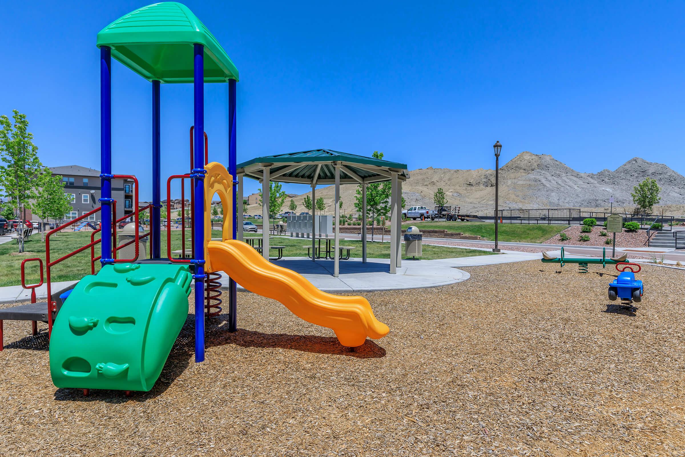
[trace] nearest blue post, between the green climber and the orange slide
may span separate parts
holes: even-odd
[[[204,47],[197,43],[193,45],[193,87],[195,93],[195,137],[193,138],[194,153],[193,166],[190,171],[192,192],[195,196],[195,208],[192,214],[192,224],[195,227],[195,362],[205,360],[205,106],[204,106]]]

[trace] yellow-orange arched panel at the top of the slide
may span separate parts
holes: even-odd
[[[221,224],[221,238],[223,241],[233,239],[233,176],[225,166],[219,162],[210,162],[205,167],[205,269],[212,269],[208,245],[212,240],[212,198],[219,195],[223,206],[223,223]]]

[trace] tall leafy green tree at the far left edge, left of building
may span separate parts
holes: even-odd
[[[0,187],[8,198],[7,205],[15,212],[23,206],[30,207],[35,197],[34,180],[42,172],[38,158],[38,147],[34,145],[34,135],[29,132],[29,121],[25,114],[12,110],[14,125],[8,116],[0,116]],[[19,219],[19,252],[24,251],[24,221]]]

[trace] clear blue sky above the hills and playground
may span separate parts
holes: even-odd
[[[99,29],[145,1],[3,2],[0,114],[42,161],[99,169]],[[640,156],[685,174],[685,2],[186,1],[240,71],[238,162],[324,147],[493,168],[521,151],[579,171]],[[149,195],[151,84],[114,64],[114,171]],[[206,85],[226,161],[226,85]],[[187,171],[192,87],[162,86],[163,175]],[[258,184],[247,180],[246,193]],[[306,187],[292,185],[295,193]]]

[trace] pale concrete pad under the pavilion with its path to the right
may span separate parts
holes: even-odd
[[[539,254],[499,254],[440,260],[403,260],[397,273],[391,274],[390,259],[360,258],[340,262],[340,275],[333,276],[333,260],[316,260],[288,257],[273,262],[303,275],[316,288],[326,292],[398,291],[412,288],[446,286],[469,279],[469,273],[458,267],[475,267],[497,263],[520,262],[540,258]],[[222,288],[227,288],[228,277],[221,278]],[[240,288],[240,287],[238,287]]]

